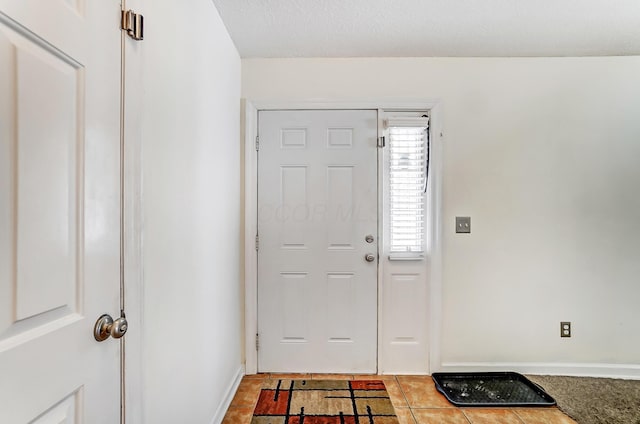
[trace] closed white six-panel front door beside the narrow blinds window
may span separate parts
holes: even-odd
[[[261,111],[258,135],[258,370],[375,373],[377,112]]]

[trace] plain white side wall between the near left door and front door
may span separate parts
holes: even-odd
[[[240,58],[210,0],[146,5],[143,418],[209,424],[242,372]]]

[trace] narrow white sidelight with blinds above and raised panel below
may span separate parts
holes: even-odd
[[[381,373],[429,372],[430,110],[383,110]],[[435,163],[435,162],[434,162]],[[436,167],[432,168],[436,170]],[[409,371],[410,370],[410,371]]]

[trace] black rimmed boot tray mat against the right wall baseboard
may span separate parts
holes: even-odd
[[[544,389],[515,372],[437,372],[436,389],[456,406],[553,406]]]

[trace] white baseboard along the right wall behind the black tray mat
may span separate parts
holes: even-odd
[[[435,370],[434,370],[435,371]],[[514,371],[533,375],[622,378],[640,380],[637,364],[539,363],[539,362],[443,362],[440,372]]]

